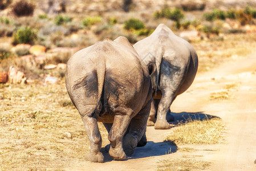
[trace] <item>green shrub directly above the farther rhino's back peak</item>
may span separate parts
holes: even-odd
[[[173,21],[180,21],[182,18],[184,18],[184,14],[182,14],[182,11],[177,8],[174,8],[172,10],[164,8],[160,11],[156,11],[153,15],[155,18],[168,18],[172,19]]]

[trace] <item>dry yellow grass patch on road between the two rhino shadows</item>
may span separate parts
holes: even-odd
[[[220,119],[189,120],[179,124],[165,140],[177,145],[222,143],[224,131],[225,125]]]

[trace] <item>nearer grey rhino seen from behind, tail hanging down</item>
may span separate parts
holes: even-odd
[[[86,160],[104,161],[97,121],[107,129],[109,155],[117,160],[131,155],[138,142],[138,146],[147,143],[151,80],[127,38],[105,39],[71,56],[66,87],[91,143]]]

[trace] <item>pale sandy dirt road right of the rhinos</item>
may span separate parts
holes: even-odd
[[[227,85],[235,85],[228,90]],[[227,100],[209,100],[210,93],[229,92]],[[172,105],[175,119],[194,113],[220,117],[227,127],[226,142],[214,145],[190,145],[193,152],[177,150],[163,142],[169,130],[147,128],[148,144],[136,148],[131,158],[115,161],[107,157],[103,164],[84,161],[72,170],[156,170],[162,159],[190,155],[212,162],[208,170],[256,170],[256,56],[230,59],[212,71],[198,74],[192,87],[178,96]],[[198,114],[198,115],[201,115]],[[104,144],[105,145],[105,144]],[[180,148],[180,146],[179,146]],[[104,154],[107,156],[107,154]]]

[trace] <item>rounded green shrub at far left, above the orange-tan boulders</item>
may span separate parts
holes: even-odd
[[[13,44],[29,43],[32,44],[36,40],[36,32],[30,27],[19,28],[19,30],[13,36]]]

